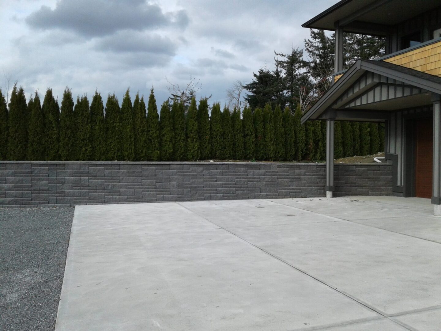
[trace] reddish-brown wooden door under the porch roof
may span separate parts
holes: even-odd
[[[433,122],[419,120],[416,124],[416,196],[432,197]]]

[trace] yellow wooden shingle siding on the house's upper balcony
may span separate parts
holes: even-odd
[[[383,61],[441,77],[441,41]]]

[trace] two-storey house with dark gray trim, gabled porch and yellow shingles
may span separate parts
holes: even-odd
[[[335,31],[333,85],[302,117],[327,123],[327,196],[334,121],[382,122],[394,194],[431,198],[441,216],[440,0],[342,0],[303,27]],[[344,32],[385,37],[386,55],[342,70]]]

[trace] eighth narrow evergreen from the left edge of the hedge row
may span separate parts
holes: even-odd
[[[115,94],[108,95],[105,108],[105,127],[108,153],[107,159],[118,161],[122,159],[121,153],[121,109]]]

